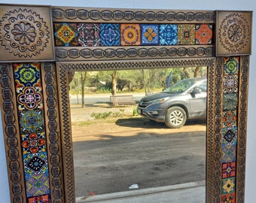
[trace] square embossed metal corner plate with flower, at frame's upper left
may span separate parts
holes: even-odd
[[[54,59],[50,6],[0,5],[0,60]]]

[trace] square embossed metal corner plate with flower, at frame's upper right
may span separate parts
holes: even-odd
[[[216,11],[216,56],[251,55],[251,11]]]

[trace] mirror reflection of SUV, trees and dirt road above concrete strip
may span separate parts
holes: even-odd
[[[76,197],[205,183],[206,67],[69,75]]]

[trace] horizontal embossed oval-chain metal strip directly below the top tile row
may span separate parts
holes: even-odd
[[[117,59],[175,59],[177,57],[212,57],[212,44],[190,46],[134,46],[134,47],[55,47],[56,60],[65,61],[95,61]]]

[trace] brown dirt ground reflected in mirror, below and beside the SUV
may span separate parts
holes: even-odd
[[[134,108],[71,106],[77,197],[205,180],[206,123],[168,129]]]

